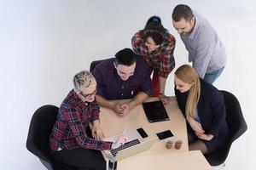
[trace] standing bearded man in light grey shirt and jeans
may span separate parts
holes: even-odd
[[[189,51],[189,62],[199,77],[213,83],[227,62],[223,43],[210,23],[187,5],[179,4],[172,12],[172,24]]]

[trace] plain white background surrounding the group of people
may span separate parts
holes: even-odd
[[[228,65],[215,85],[236,94],[248,130],[232,145],[226,169],[256,169],[253,0],[0,0],[0,169],[44,169],[26,150],[33,112],[41,105],[60,105],[73,88],[73,75],[89,69],[91,60],[131,47],[132,35],[150,16],[159,15],[177,38],[177,66],[187,63],[183,42],[172,28],[178,3],[204,15],[227,48]],[[173,95],[173,73],[166,92]]]

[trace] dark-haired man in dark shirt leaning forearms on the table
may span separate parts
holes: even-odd
[[[147,62],[130,48],[120,50],[115,58],[103,60],[92,74],[96,78],[96,102],[125,116],[152,94],[150,69]],[[131,99],[119,103],[113,99]]]

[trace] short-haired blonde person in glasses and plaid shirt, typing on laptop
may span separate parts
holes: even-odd
[[[79,169],[106,169],[98,150],[117,148],[127,139],[120,136],[115,143],[102,141],[104,134],[99,121],[100,110],[95,101],[96,80],[89,71],[76,74],[73,86],[61,104],[49,137],[52,156]]]

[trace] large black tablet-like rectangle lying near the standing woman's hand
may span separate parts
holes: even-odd
[[[143,109],[148,118],[148,122],[168,121],[169,116],[161,101],[143,103]]]

